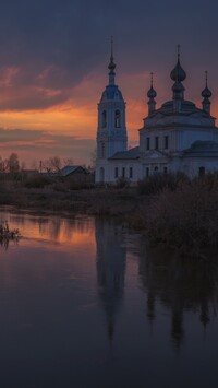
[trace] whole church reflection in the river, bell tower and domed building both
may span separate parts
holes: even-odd
[[[96,246],[98,295],[112,343],[124,297],[128,248],[123,246],[122,231],[113,222],[100,219],[96,219]],[[146,320],[150,324],[159,320],[158,306],[161,306],[170,318],[169,336],[180,348],[186,314],[197,315],[205,329],[217,311],[218,269],[198,262],[185,263],[162,252],[148,252],[144,242],[140,246],[138,281],[145,292]]]

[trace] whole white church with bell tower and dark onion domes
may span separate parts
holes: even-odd
[[[184,97],[186,73],[178,48],[177,64],[170,73],[172,99],[156,108],[152,75],[140,145],[128,149],[125,102],[116,84],[112,45],[108,69],[109,82],[98,104],[96,183],[116,184],[126,178],[134,184],[158,173],[183,172],[192,177],[218,169],[218,128],[210,115],[207,72],[198,108]]]

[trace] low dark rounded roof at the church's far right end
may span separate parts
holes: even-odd
[[[183,151],[183,157],[218,157],[216,141],[195,141],[190,149]]]

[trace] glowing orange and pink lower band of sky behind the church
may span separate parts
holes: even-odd
[[[7,157],[11,152],[15,152],[27,167],[33,164],[39,165],[40,160],[55,155],[62,158],[71,157],[75,164],[89,164],[92,152],[96,148],[97,104],[108,83],[107,70],[101,69],[100,73],[99,69],[96,69],[68,91],[63,89],[58,92],[56,87],[46,89],[36,85],[23,89],[21,85],[20,91],[23,96],[21,99],[23,98],[24,107],[17,108],[15,101],[19,98],[19,93],[13,93],[13,79],[16,78],[17,82],[20,72],[17,69],[8,69],[4,83],[1,83],[7,93],[0,96],[0,156]],[[48,71],[45,71],[45,74],[47,73]],[[149,71],[119,72],[117,75],[119,87],[126,102],[129,146],[138,144],[137,130],[143,126],[143,118],[147,115],[146,93],[149,87]],[[161,82],[162,79],[165,83]],[[171,83],[169,77],[166,80],[162,74],[156,75],[155,83],[158,92],[157,107],[159,107],[171,99]],[[195,99],[196,94],[189,95],[190,92],[192,92],[192,84],[185,92],[185,98]],[[48,106],[37,107],[36,104],[35,107],[26,109],[26,99],[32,98],[34,106],[34,96],[37,93],[45,98],[43,103]],[[60,94],[64,95],[64,101],[52,101]],[[218,116],[216,102],[218,97],[215,95],[215,98],[211,98],[214,116]],[[201,107],[199,94],[195,103]],[[3,109],[3,106],[8,108]]]

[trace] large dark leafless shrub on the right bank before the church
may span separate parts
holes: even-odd
[[[153,245],[205,257],[218,249],[218,175],[164,189],[145,211],[144,227]]]

